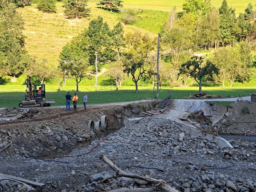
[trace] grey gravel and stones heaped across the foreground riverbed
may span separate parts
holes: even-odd
[[[93,141],[71,154],[83,154],[98,142]],[[122,187],[159,191],[150,183],[130,178],[99,184],[97,181],[114,174],[99,160],[100,154],[104,154],[125,172],[165,180],[180,191],[256,191],[256,143],[229,142],[234,148],[219,147],[205,138],[189,135],[172,121],[148,117],[116,131],[87,155],[54,159],[61,163],[26,158],[21,154],[0,157],[0,167],[1,173],[46,183],[45,187],[37,189],[43,192],[92,192]],[[3,191],[24,191],[22,185],[12,186],[12,183],[1,182]]]

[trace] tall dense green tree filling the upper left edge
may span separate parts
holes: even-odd
[[[1,74],[17,76],[24,71],[26,63],[22,59],[27,53],[23,29],[24,20],[17,13],[16,5],[0,0],[0,57],[1,66],[4,67]]]

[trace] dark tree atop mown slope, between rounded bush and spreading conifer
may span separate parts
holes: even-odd
[[[88,0],[65,0],[65,16],[69,19],[88,17],[90,8],[85,8],[87,6],[87,2]]]

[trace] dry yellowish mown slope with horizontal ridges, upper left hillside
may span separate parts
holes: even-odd
[[[112,28],[119,22],[120,14],[111,13],[104,9],[97,8],[95,2],[89,2],[91,16],[83,19],[65,19],[62,3],[57,3],[57,12],[47,14],[36,9],[36,5],[19,8],[18,11],[25,19],[26,49],[29,54],[36,55],[38,59],[47,59],[49,63],[58,64],[59,53],[62,47],[74,36],[78,35],[88,26],[90,19],[102,16]],[[134,25],[124,25],[125,32],[141,30],[150,33]]]

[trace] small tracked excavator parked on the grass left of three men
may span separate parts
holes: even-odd
[[[25,83],[27,85],[25,100],[19,104],[19,107],[50,107],[55,103],[54,99],[45,99],[45,84],[32,84],[29,75]]]

